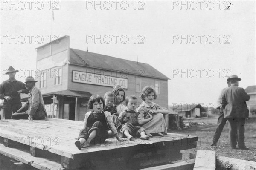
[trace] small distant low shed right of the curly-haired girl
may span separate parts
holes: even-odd
[[[179,116],[183,117],[204,117],[207,114],[207,110],[200,104],[184,104],[173,107],[175,112],[178,112]]]

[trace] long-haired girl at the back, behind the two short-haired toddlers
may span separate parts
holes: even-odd
[[[120,85],[116,85],[112,92],[116,96],[116,111],[120,114],[122,111],[126,110],[125,105],[122,104],[122,102],[125,101],[125,90]]]

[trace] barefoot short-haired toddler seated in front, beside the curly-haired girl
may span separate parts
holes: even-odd
[[[133,136],[140,135],[140,139],[148,140],[149,136],[146,135],[145,129],[138,126],[137,117],[138,113],[135,112],[137,105],[137,97],[135,95],[128,95],[125,98],[127,109],[122,111],[119,115],[119,120],[122,125],[123,134],[131,141]]]

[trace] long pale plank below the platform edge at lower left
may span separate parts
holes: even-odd
[[[9,158],[15,159],[19,162],[23,162],[24,164],[31,165],[40,170],[63,170],[61,164],[48,160],[47,158],[37,158],[30,155],[30,153],[26,153],[23,150],[19,150],[17,148],[9,148],[5,146],[0,146],[0,154],[7,156]]]

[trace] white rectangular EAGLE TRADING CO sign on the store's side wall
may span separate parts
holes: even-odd
[[[119,84],[123,89],[128,89],[127,78],[118,78],[89,72],[79,72],[73,70],[72,81],[77,83],[95,84],[99,86],[109,87],[113,87],[116,86],[116,84]]]

